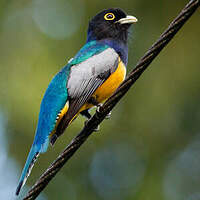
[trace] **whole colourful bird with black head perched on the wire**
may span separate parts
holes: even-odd
[[[89,119],[89,110],[108,99],[125,79],[129,30],[136,22],[120,8],[105,9],[89,21],[86,43],[54,76],[43,96],[16,195],[49,143],[53,145],[79,114]]]

